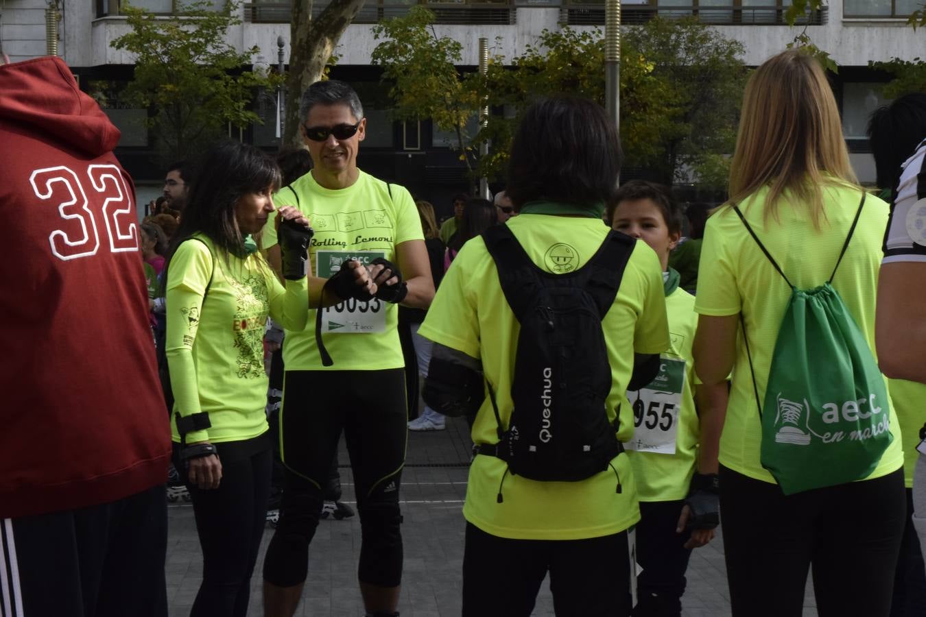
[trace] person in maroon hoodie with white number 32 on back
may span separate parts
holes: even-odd
[[[0,615],[167,615],[170,436],[119,130],[0,60]]]

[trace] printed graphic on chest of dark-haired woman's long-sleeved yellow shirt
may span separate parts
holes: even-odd
[[[267,326],[269,298],[267,281],[262,276],[250,276],[239,282],[228,278],[235,294],[235,313],[232,316],[234,348],[238,350],[235,363],[238,376],[257,379],[264,373],[264,328]]]

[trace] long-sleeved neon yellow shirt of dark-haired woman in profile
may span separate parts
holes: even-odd
[[[209,414],[211,428],[187,433],[187,443],[255,438],[268,428],[267,317],[305,327],[307,280],[288,280],[283,290],[259,253],[226,260],[205,236],[195,237],[201,241],[177,247],[168,269],[165,349],[173,411]],[[180,441],[174,413],[170,430]]]

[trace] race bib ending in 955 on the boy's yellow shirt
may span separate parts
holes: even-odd
[[[633,407],[633,438],[627,450],[674,454],[685,381],[683,360],[662,358],[659,374],[645,388],[627,392]]]

